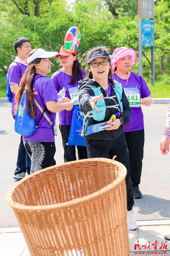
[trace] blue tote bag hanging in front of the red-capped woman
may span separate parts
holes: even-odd
[[[83,129],[83,117],[80,113],[79,106],[74,106],[73,117],[71,121],[68,145],[86,146],[84,137],[81,136]]]

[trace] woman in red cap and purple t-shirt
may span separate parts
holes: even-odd
[[[61,103],[64,103],[71,100],[69,88],[77,87],[78,81],[82,80],[86,76],[86,73],[84,69],[81,68],[80,62],[76,56],[76,51],[69,53],[63,45],[59,54],[55,57],[60,57],[61,68],[53,74],[51,79],[56,86],[57,92],[61,91],[63,87],[66,88],[66,97],[61,101]],[[63,110],[59,113],[59,129],[64,148],[64,162],[76,160],[75,145],[68,145],[72,116],[73,110]],[[79,159],[88,158],[86,146],[77,145],[77,150]]]

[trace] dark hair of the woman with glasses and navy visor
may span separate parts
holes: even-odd
[[[96,51],[101,51],[101,52],[104,52],[104,51],[107,51],[109,53],[109,48],[107,48],[106,46],[97,46],[97,47],[94,47],[92,49],[90,49],[89,51],[86,52],[86,61],[87,61],[87,58],[94,52]],[[112,78],[112,65],[111,65],[111,62],[109,61],[109,65],[110,65],[110,69],[109,69],[109,73],[108,73],[108,78]],[[89,71],[89,69],[87,69],[87,72],[86,72],[86,78],[85,80],[88,80],[88,78],[90,79],[93,79],[93,74],[91,71]]]

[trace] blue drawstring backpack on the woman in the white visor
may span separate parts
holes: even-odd
[[[27,104],[28,104],[28,101],[27,101],[27,98],[25,97],[25,91],[24,91],[17,109],[15,125],[14,125],[15,131],[24,136],[32,135],[36,129],[35,119],[29,116],[30,109],[28,109],[28,114],[24,110],[27,107]]]

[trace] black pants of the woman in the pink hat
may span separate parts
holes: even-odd
[[[130,178],[132,186],[140,184],[140,177],[142,172],[142,159],[144,147],[144,129],[133,132],[125,132],[127,148],[129,152],[130,161]]]

